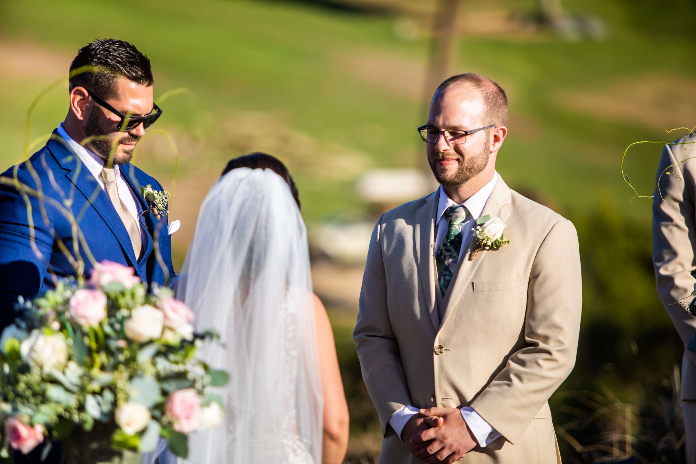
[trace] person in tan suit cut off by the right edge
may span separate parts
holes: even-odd
[[[656,174],[652,237],[658,295],[685,348],[681,409],[690,464],[696,464],[696,353],[686,349],[696,335],[696,298],[692,296],[696,290],[696,160],[690,160],[696,156],[695,143],[696,136],[685,136],[663,149]]]

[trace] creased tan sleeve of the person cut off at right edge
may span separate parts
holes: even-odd
[[[665,145],[662,152],[653,200],[652,248],[658,294],[686,346],[696,333],[696,317],[688,312],[696,287],[694,178],[690,169],[696,159],[668,169],[674,175],[662,175],[677,164],[677,159],[684,159],[684,146]],[[687,152],[687,158],[695,155],[695,149]],[[690,355],[696,361],[696,353]]]

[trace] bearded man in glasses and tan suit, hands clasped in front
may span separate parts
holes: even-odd
[[[578,238],[496,173],[506,125],[498,84],[443,82],[418,128],[441,186],[374,227],[354,339],[380,463],[560,462],[547,400],[576,357]]]

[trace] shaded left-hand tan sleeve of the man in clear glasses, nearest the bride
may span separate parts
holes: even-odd
[[[363,381],[377,409],[382,434],[386,437],[394,433],[389,426],[390,417],[397,410],[411,404],[411,395],[406,387],[399,345],[392,332],[387,311],[386,278],[380,241],[381,221],[380,217],[367,251],[353,339],[358,348]]]

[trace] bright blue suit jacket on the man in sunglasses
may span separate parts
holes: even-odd
[[[90,275],[93,266],[88,253],[93,255],[95,262],[109,259],[133,267],[148,284],[172,282],[175,273],[167,216],[157,221],[141,194],[141,186],[150,184],[153,189],[163,190],[162,186],[130,163],[120,166],[120,170],[141,213],[141,259],[136,258],[128,232],[109,195],[57,131],[28,161],[2,174],[0,329],[13,322],[13,307],[18,296],[33,298],[54,286],[54,276],[77,275],[75,263],[78,261],[84,262],[84,275]],[[15,171],[17,181],[39,191],[42,200],[31,193],[22,195],[21,189],[5,183],[7,179],[13,181]],[[74,240],[70,215],[76,219],[86,247],[80,239]],[[153,237],[157,237],[157,241]]]

